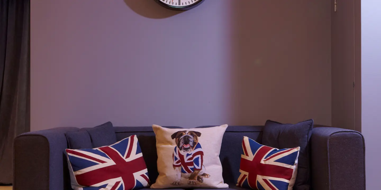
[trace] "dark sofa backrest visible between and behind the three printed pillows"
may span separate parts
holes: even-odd
[[[197,128],[205,127],[214,126],[200,126]],[[229,126],[226,129],[221,144],[221,153],[219,155],[223,167],[223,178],[225,183],[235,184],[239,177],[243,136],[247,136],[261,143],[262,128],[263,126]],[[146,161],[149,179],[151,180],[151,183],[154,183],[158,173],[156,138],[152,127],[115,127],[115,133],[118,141],[131,135],[138,136],[143,158]]]

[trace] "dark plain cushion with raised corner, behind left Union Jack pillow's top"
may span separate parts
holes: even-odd
[[[109,146],[117,142],[114,127],[111,122],[103,123],[93,128],[87,128],[93,148]]]

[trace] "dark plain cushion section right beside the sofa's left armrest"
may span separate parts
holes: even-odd
[[[90,135],[86,130],[66,133],[67,143],[69,149],[91,149]]]

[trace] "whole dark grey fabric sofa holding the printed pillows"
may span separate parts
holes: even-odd
[[[176,127],[177,128],[177,127]],[[261,143],[263,126],[230,126],[224,134],[220,159],[224,181],[236,187],[242,138]],[[114,127],[117,140],[137,135],[151,183],[157,173],[155,134],[151,127]],[[24,133],[14,140],[15,190],[71,190],[64,150],[65,133],[78,128],[52,128]],[[292,147],[290,147],[292,148]],[[361,133],[332,127],[315,127],[311,136],[312,188],[314,190],[365,190],[365,145]]]

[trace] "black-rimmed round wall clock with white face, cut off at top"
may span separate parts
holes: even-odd
[[[155,0],[155,2],[159,3],[165,8],[176,11],[186,11],[195,8],[204,1],[205,0]]]

